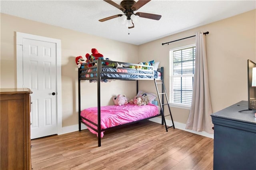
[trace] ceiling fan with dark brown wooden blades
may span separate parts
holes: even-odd
[[[144,6],[146,3],[148,3],[150,0],[138,0],[137,2],[135,2],[134,0],[123,0],[120,5],[116,4],[115,2],[113,2],[112,0],[104,0],[105,2],[108,2],[110,5],[120,9],[124,14],[117,14],[114,16],[109,16],[107,18],[103,18],[101,20],[99,20],[100,22],[104,22],[113,18],[117,18],[117,17],[122,17],[125,16],[126,19],[129,21],[131,21],[132,26],[128,26],[128,28],[134,28],[134,23],[132,22],[132,15],[134,16],[139,16],[142,18],[148,18],[148,19],[152,19],[152,20],[160,20],[160,18],[162,17],[161,15],[156,15],[156,14],[149,14],[149,13],[144,13],[144,12],[136,12],[134,13],[134,11],[140,9],[142,6]]]

